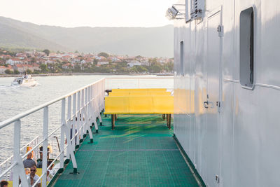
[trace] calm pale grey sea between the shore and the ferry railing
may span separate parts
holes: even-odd
[[[66,95],[85,85],[98,81],[101,78],[116,78],[118,76],[38,76],[35,77],[38,85],[35,87],[12,86],[14,78],[0,78],[0,121],[11,118],[23,111],[44,104],[52,99]],[[124,77],[124,76],[121,76]],[[132,76],[127,76],[132,77]],[[139,76],[137,76],[139,77]],[[143,76],[142,76],[143,77]],[[145,76],[153,77],[153,76]],[[162,79],[158,80],[162,84]],[[164,80],[167,88],[173,88],[173,81]],[[118,81],[122,82],[122,79]],[[124,81],[125,83],[125,81]],[[145,81],[144,81],[145,83]],[[146,84],[149,83],[147,79]],[[61,102],[50,106],[49,132],[59,125]],[[43,111],[38,111],[22,119],[21,142],[22,146],[43,132]],[[57,132],[58,135],[59,132]],[[55,141],[52,139],[51,141]],[[56,149],[56,148],[54,148]],[[0,163],[8,156],[13,155],[13,125],[0,130]]]

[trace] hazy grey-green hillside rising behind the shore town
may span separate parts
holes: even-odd
[[[64,28],[0,17],[0,34],[0,47],[173,57],[172,25]]]

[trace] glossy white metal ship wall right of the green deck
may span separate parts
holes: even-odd
[[[174,20],[174,134],[207,186],[280,186],[280,1],[206,0],[205,7],[203,20]],[[249,7],[254,10],[253,89],[239,78],[239,18]],[[216,12],[221,40],[208,32]],[[217,43],[218,78],[211,76],[215,61],[209,58],[218,57]],[[215,81],[221,109],[216,103],[206,109]]]

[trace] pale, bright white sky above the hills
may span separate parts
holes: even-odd
[[[174,0],[1,0],[0,16],[61,27],[160,27]]]

